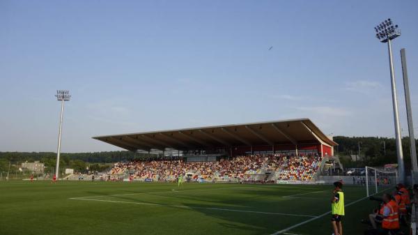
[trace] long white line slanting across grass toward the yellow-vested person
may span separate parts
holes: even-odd
[[[101,199],[84,199],[84,198],[70,198],[74,200],[84,200],[84,201],[95,201],[95,202],[113,202],[113,203],[123,203],[123,204],[140,204],[148,206],[166,206],[166,207],[176,207],[176,208],[185,208],[185,209],[203,209],[203,210],[213,210],[213,211],[233,211],[233,212],[242,212],[242,213],[258,213],[265,215],[287,215],[287,216],[300,216],[300,217],[312,217],[315,218],[315,215],[299,215],[299,214],[290,214],[290,213],[274,213],[274,212],[265,212],[265,211],[244,211],[244,210],[235,210],[235,209],[223,209],[217,207],[202,207],[202,206],[180,206],[180,205],[169,205],[169,204],[156,204],[148,202],[123,202],[123,201],[114,201],[114,200],[101,200]]]

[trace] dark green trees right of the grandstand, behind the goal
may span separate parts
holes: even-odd
[[[398,162],[394,138],[336,136],[334,141],[339,144],[334,148],[334,155],[340,157],[344,167],[382,166]],[[415,146],[417,144],[418,141],[415,139]],[[359,146],[360,155],[356,161],[353,158],[358,156]],[[409,137],[402,138],[402,148],[405,169],[409,170],[411,168]]]

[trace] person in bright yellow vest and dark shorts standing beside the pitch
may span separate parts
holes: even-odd
[[[334,235],[343,235],[343,224],[341,222],[344,213],[344,192],[343,183],[340,181],[334,182],[334,191],[332,191],[331,199],[331,224]]]

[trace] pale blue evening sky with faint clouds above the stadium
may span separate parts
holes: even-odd
[[[373,29],[387,17],[402,30],[407,135],[399,50],[418,128],[416,0],[0,0],[0,151],[56,151],[57,89],[72,95],[64,152],[118,149],[95,135],[302,117],[327,135],[394,137]]]

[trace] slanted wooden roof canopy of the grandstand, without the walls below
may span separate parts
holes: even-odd
[[[151,149],[214,149],[232,146],[302,144],[337,145],[309,119],[290,119],[178,130],[137,132],[93,137],[130,151]]]

